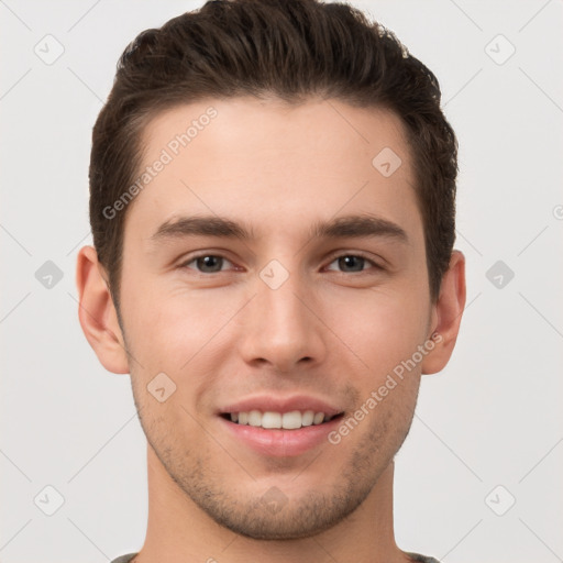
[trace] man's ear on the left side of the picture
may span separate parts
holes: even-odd
[[[78,319],[90,346],[106,369],[114,374],[128,374],[123,334],[106,271],[93,246],[84,246],[78,253],[76,285],[79,296]]]

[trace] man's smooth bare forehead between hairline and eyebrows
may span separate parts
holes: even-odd
[[[417,213],[405,129],[383,109],[210,99],[157,114],[143,143],[139,177],[146,181],[126,214],[143,236],[194,212],[241,220],[252,212],[278,230],[339,210],[371,210],[399,223]]]

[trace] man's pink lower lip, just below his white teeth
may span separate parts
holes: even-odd
[[[327,443],[328,434],[341,423],[341,418],[333,418],[322,424],[301,427],[298,430],[283,430],[236,424],[219,417],[227,431],[231,432],[234,438],[255,452],[274,457],[300,455],[323,442]]]

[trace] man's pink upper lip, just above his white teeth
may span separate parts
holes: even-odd
[[[231,412],[250,412],[251,410],[260,410],[261,412],[290,412],[292,410],[312,410],[314,412],[324,412],[329,417],[340,415],[342,409],[330,405],[323,399],[310,397],[307,395],[294,395],[290,397],[280,397],[275,395],[255,395],[245,399],[238,400],[230,405],[225,405],[219,409],[219,415]]]

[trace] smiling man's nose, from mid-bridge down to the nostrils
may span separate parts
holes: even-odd
[[[277,273],[278,274],[278,273]],[[279,286],[260,276],[244,308],[240,353],[249,365],[289,373],[322,363],[327,353],[321,305],[297,274]]]

